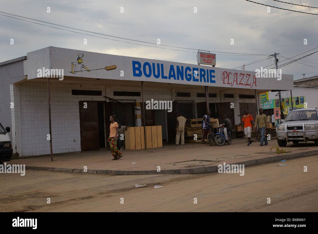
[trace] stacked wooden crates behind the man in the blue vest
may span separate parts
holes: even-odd
[[[188,122],[188,121],[187,121]],[[213,128],[219,127],[218,119],[210,118],[210,124]],[[194,134],[197,134],[197,140],[194,140]],[[190,124],[185,125],[184,137],[186,143],[201,142],[202,138],[202,118],[190,119]]]

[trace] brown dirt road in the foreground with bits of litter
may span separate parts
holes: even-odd
[[[318,155],[285,163],[245,167],[244,176],[0,174],[0,211],[318,211]]]

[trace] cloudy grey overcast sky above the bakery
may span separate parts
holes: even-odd
[[[279,3],[254,2],[318,14],[318,9]],[[283,0],[284,1],[284,0]],[[317,0],[285,0],[318,7]],[[0,1],[3,12],[107,35],[208,51],[273,54],[290,58],[318,47],[318,15],[285,11],[245,0],[18,0]],[[47,13],[50,7],[51,13]],[[124,12],[120,12],[123,7]],[[194,13],[194,7],[197,13]],[[2,13],[1,13],[2,14]],[[97,38],[0,15],[0,62],[48,46],[132,57],[196,64],[196,53],[167,50]],[[105,37],[105,36],[102,36]],[[109,38],[109,37],[108,37]],[[14,45],[10,45],[14,39]],[[87,45],[83,40],[87,39]],[[234,39],[234,45],[230,40]],[[307,45],[304,45],[307,39]],[[122,40],[122,39],[120,39]],[[127,41],[127,40],[126,40]],[[135,42],[139,43],[139,42]],[[140,44],[140,43],[139,43]],[[149,45],[149,44],[147,44]],[[155,45],[154,45],[155,46]],[[177,49],[177,48],[174,48]],[[186,51],[187,49],[180,49]],[[304,53],[295,58],[318,51]],[[212,52],[211,52],[212,53]],[[216,66],[235,68],[267,56],[216,56]],[[294,59],[295,59],[294,58]],[[289,60],[279,57],[279,65]],[[318,53],[282,67],[294,80],[318,74]],[[311,63],[309,63],[311,62]],[[245,66],[245,70],[274,67],[274,60]],[[237,68],[240,69],[240,68]]]

